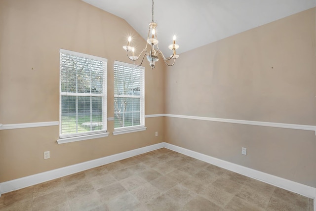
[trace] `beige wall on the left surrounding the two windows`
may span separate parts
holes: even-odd
[[[1,0],[0,26],[1,124],[59,121],[59,48],[108,59],[113,117],[114,61],[129,62],[121,47],[128,35],[139,48],[146,43],[121,18],[81,0]],[[163,113],[164,70],[143,65],[145,114]],[[58,126],[0,130],[0,182],[162,142],[163,118],[145,123],[146,131],[113,136],[108,122],[109,137],[60,145]]]

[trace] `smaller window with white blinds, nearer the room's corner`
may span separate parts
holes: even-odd
[[[145,130],[145,68],[114,62],[114,130]]]

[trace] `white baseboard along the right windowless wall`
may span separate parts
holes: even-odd
[[[173,150],[175,152],[190,156],[192,158],[196,158],[198,160],[204,161],[206,163],[224,168],[224,169],[228,169],[237,173],[240,173],[242,175],[248,176],[250,178],[254,178],[257,180],[260,180],[262,182],[274,185],[276,187],[294,192],[294,193],[298,193],[300,195],[309,197],[309,198],[313,198],[314,199],[314,204],[316,201],[316,188],[308,186],[308,185],[304,185],[298,182],[293,182],[291,180],[288,179],[284,179],[281,177],[277,177],[262,171],[258,171],[255,169],[250,169],[247,167],[243,167],[234,163],[230,163],[224,160],[220,160],[218,158],[214,158],[208,155],[204,155],[192,150],[188,150],[182,147],[178,147],[169,143],[164,143],[164,147],[170,150]],[[314,208],[316,208],[314,206]]]

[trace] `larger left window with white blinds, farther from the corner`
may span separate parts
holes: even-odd
[[[60,49],[59,141],[107,136],[106,81],[107,59]]]

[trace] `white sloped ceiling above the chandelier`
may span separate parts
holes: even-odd
[[[83,1],[123,18],[147,40],[152,0]],[[315,6],[316,0],[155,0],[158,45],[168,56],[175,34],[179,54]]]

